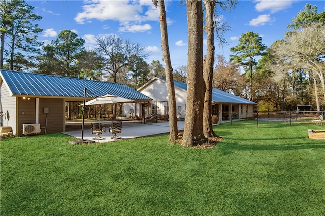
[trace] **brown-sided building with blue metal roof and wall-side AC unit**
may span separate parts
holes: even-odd
[[[56,133],[66,130],[66,102],[83,102],[106,94],[147,103],[151,98],[118,83],[0,70],[0,123],[13,134]],[[126,115],[129,111],[125,111]]]

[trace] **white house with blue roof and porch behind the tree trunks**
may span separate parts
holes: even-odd
[[[174,81],[174,87],[177,118],[181,120],[185,118],[187,85],[183,82]],[[152,98],[151,107],[148,109],[151,115],[166,115],[168,113],[166,79],[155,77],[141,86],[138,91]],[[254,105],[256,103],[233,94],[216,88],[212,90],[212,115],[218,115],[219,119],[253,117]]]

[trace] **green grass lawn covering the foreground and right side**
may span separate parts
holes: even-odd
[[[209,150],[168,135],[70,145],[48,134],[0,142],[1,215],[323,215],[325,143],[255,121],[214,127]]]

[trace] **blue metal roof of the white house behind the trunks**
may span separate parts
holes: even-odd
[[[158,78],[164,82],[166,82],[165,78]],[[174,81],[174,86],[184,89],[187,91],[187,84],[179,81]],[[244,104],[256,104],[250,100],[246,100],[244,98],[238,97],[233,94],[229,94],[227,92],[221,91],[217,88],[212,89],[212,103],[244,103]]]

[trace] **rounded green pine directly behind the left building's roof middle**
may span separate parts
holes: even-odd
[[[56,75],[64,77],[79,77],[79,70],[76,61],[80,54],[84,52],[85,40],[70,30],[63,30],[57,39],[51,42],[55,58],[60,63],[60,69]]]

